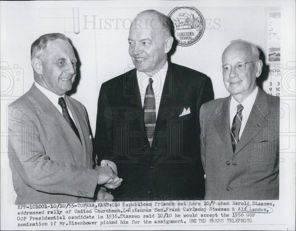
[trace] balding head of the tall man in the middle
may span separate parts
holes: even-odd
[[[154,75],[165,65],[173,44],[170,19],[155,10],[139,13],[131,24],[128,43],[136,69]]]

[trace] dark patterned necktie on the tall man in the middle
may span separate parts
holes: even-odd
[[[150,147],[152,147],[153,134],[156,123],[155,96],[152,88],[152,83],[152,78],[149,78],[149,84],[146,88],[144,99],[144,122]]]

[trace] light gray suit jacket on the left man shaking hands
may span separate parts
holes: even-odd
[[[98,173],[86,110],[66,96],[81,142],[65,118],[33,84],[8,106],[9,166],[15,204],[93,201]]]

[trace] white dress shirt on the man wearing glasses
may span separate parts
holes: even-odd
[[[229,107],[229,122],[230,122],[230,129],[232,126],[232,122],[234,119],[234,116],[237,114],[237,105],[241,104],[244,109],[242,110],[242,125],[241,128],[239,130],[239,139],[242,136],[242,132],[244,131],[244,127],[247,124],[247,120],[250,116],[252,107],[254,105],[256,96],[258,93],[258,87],[256,86],[255,90],[252,92],[251,95],[249,95],[249,97],[247,97],[242,103],[238,103],[234,97],[231,96],[231,100],[230,100],[230,107]]]

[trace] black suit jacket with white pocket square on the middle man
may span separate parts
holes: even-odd
[[[203,199],[199,109],[211,99],[205,74],[169,63],[151,148],[136,69],[102,84],[94,147],[123,178],[112,191],[115,200]],[[179,116],[189,107],[190,114]]]

